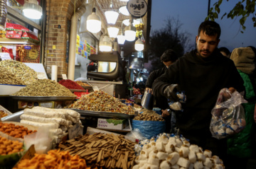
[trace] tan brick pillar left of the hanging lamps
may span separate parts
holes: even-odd
[[[61,74],[68,74],[65,53],[67,35],[70,35],[70,33],[68,33],[67,23],[73,16],[74,7],[78,8],[80,4],[81,0],[46,0],[44,66],[47,74],[51,73],[51,65],[58,66],[58,78],[61,78]]]

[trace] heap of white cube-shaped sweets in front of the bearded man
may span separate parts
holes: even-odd
[[[144,144],[139,156],[135,159],[137,168],[218,168],[223,169],[223,161],[218,156],[212,156],[209,150],[203,151],[201,147],[190,144],[186,139],[176,136],[159,136],[151,139],[149,144]]]

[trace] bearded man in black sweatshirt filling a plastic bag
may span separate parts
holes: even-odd
[[[220,54],[220,25],[204,21],[198,28],[196,48],[180,57],[169,66],[165,74],[156,78],[153,92],[156,97],[166,96],[177,101],[171,84],[178,84],[177,90],[185,91],[186,103],[183,111],[176,112],[176,126],[179,133],[191,144],[208,149],[224,161],[227,154],[227,140],[215,139],[210,133],[211,110],[215,106],[222,88],[230,92],[244,91],[243,80],[235,64]]]

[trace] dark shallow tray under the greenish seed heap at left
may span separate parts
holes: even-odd
[[[59,100],[75,100],[76,96],[19,96],[10,95],[11,98],[23,101],[59,101]]]

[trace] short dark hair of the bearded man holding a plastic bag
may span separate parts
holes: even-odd
[[[215,21],[204,21],[198,28],[198,36],[200,35],[201,31],[206,33],[206,35],[214,36],[217,35],[217,38],[220,38],[220,25],[215,23]]]

